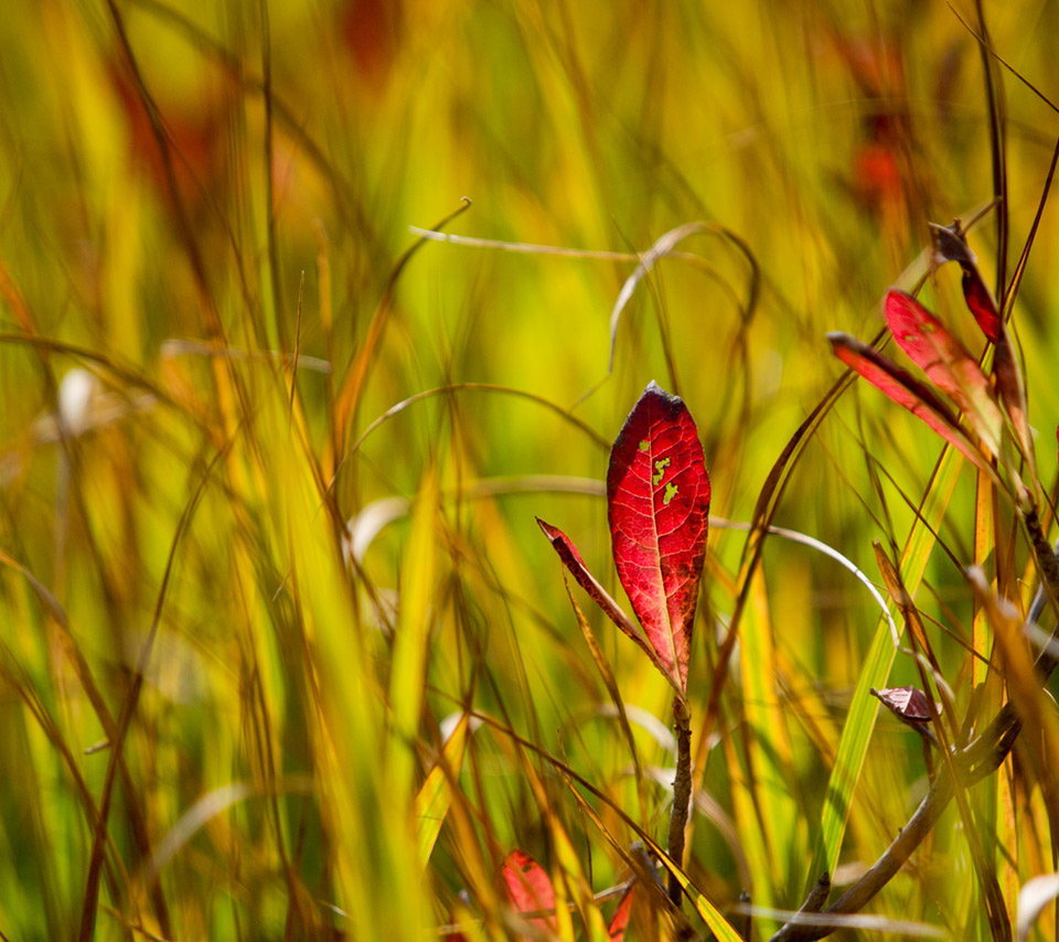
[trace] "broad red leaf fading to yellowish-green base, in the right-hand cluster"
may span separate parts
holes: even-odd
[[[985,447],[1001,453],[1004,419],[985,374],[933,314],[911,295],[891,289],[886,296],[886,322],[894,340],[930,379],[967,416]]]

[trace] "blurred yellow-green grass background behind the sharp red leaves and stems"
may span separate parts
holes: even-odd
[[[985,7],[994,49],[1059,99],[1059,8]],[[887,286],[926,270],[928,222],[993,196],[982,58],[959,17],[975,22],[970,3],[897,0],[10,0],[3,938],[420,939],[460,913],[484,920],[468,938],[503,938],[494,878],[514,846],[546,863],[590,934],[588,893],[628,876],[635,839],[610,805],[661,837],[651,769],[672,759],[645,720],[633,754],[607,711],[534,515],[618,591],[605,502],[582,479],[601,481],[655,378],[696,417],[713,513],[750,518],[841,375],[824,333],[875,335]],[[1009,272],[1057,122],[1007,73],[1003,95]],[[641,282],[608,375],[628,257],[431,242],[400,264],[408,227],[464,196],[447,232],[523,244],[628,256],[684,223],[723,228]],[[1052,216],[1014,314],[1049,483]],[[971,244],[992,279],[992,216]],[[926,297],[977,352],[954,278],[939,272]],[[855,385],[775,523],[874,574],[871,540],[903,545],[939,453]],[[1006,547],[1009,509],[999,520]],[[975,560],[974,527],[964,469],[940,527],[952,556],[934,550],[917,597],[964,704],[959,566],[992,561]],[[693,724],[721,682],[745,543],[710,534]],[[1002,568],[1020,572],[1012,545]],[[693,743],[706,813],[687,869],[721,909],[744,889],[796,907],[814,878],[878,618],[803,546],[771,540],[752,579],[715,736]],[[586,613],[627,707],[667,722],[665,682]],[[899,657],[891,685],[914,678]],[[491,721],[438,766],[468,710]],[[603,795],[582,792],[613,843],[549,756]],[[421,788],[436,766],[451,801],[431,845]],[[1055,852],[1033,775],[1018,762],[1004,774],[1008,798],[985,802],[982,827],[1014,913]],[[880,719],[837,882],[924,788],[916,737]],[[874,911],[987,938],[954,820],[916,861]],[[653,924],[641,919],[641,938]]]

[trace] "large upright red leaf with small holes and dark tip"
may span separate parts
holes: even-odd
[[[610,452],[607,499],[618,578],[663,672],[684,693],[706,558],[709,475],[691,414],[656,383]]]

